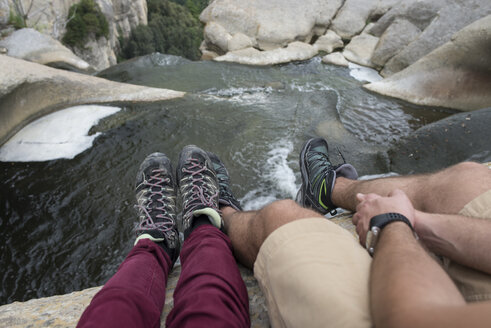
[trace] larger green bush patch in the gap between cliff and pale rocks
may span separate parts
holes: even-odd
[[[202,2],[205,0],[187,0]],[[207,0],[206,0],[207,1]],[[203,27],[199,22],[199,6],[193,15],[187,8],[168,0],[148,0],[148,26],[139,25],[122,40],[121,59],[129,59],[152,52],[183,56],[191,60],[200,57],[199,46]]]

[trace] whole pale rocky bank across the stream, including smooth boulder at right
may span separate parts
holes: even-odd
[[[205,59],[249,65],[327,53],[326,63],[349,61],[384,77],[401,72],[373,91],[474,110],[491,105],[489,15],[489,0],[215,0],[200,16],[206,24],[201,50]],[[426,64],[416,65],[420,59]],[[444,74],[430,76],[433,67]],[[412,90],[401,92],[408,85]]]

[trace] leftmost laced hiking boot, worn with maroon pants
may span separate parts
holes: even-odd
[[[136,175],[136,201],[140,223],[137,239],[150,239],[161,246],[174,263],[179,256],[177,231],[176,183],[172,165],[162,153],[148,155]]]

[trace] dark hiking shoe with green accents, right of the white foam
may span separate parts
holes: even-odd
[[[323,138],[313,138],[305,143],[300,153],[300,169],[302,186],[297,193],[296,201],[322,214],[337,213],[337,206],[333,204],[331,197],[336,176],[353,180],[358,178],[358,173],[352,165],[332,165],[328,156],[327,141]]]

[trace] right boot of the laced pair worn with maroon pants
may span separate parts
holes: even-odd
[[[194,219],[202,215],[213,226],[222,229],[218,178],[208,154],[194,145],[184,147],[179,155],[177,180],[182,200],[184,238],[193,230]]]

